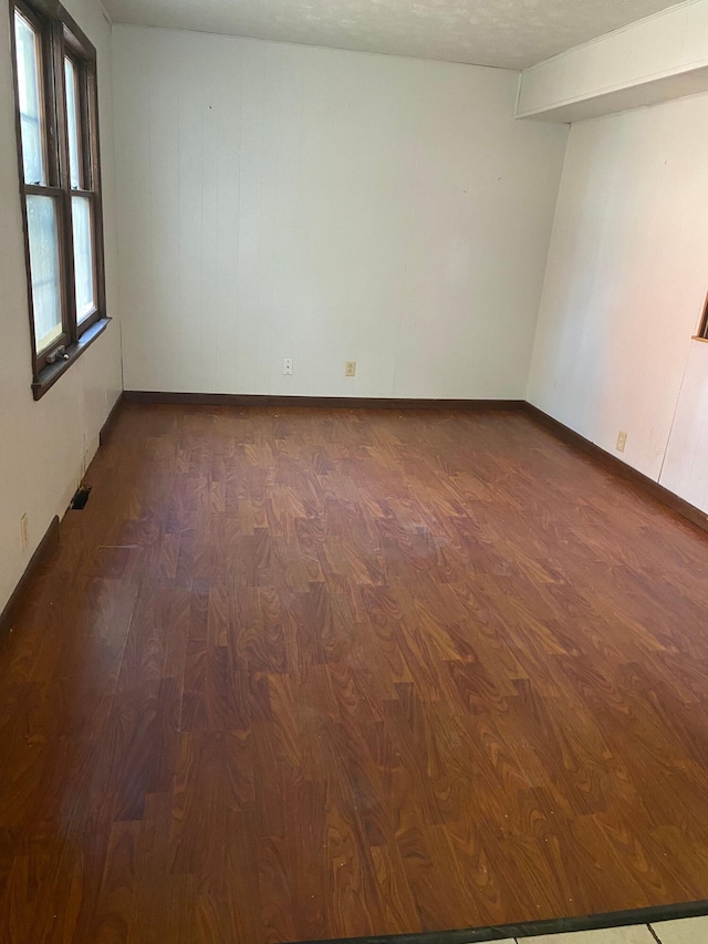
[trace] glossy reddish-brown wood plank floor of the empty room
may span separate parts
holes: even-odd
[[[126,405],[0,649],[0,940],[708,898],[708,535],[521,413]]]

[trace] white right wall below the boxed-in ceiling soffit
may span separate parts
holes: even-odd
[[[573,125],[528,391],[704,510],[707,149],[705,95]]]

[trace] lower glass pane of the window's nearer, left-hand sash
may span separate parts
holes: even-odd
[[[39,353],[62,333],[59,239],[54,198],[28,197],[27,221],[30,236],[34,336]]]

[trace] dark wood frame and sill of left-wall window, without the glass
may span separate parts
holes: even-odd
[[[32,342],[32,391],[39,400],[71,367],[74,361],[107,326],[101,199],[101,151],[98,144],[98,96],[96,50],[71,14],[56,0],[10,0],[10,37],[17,122],[18,168],[24,230],[28,302]],[[44,117],[45,183],[27,183],[22,153],[20,92],[15,48],[15,11],[31,24],[40,45],[41,110]],[[77,77],[79,186],[72,187],[65,60]],[[59,281],[61,287],[61,334],[37,351],[34,303],[30,260],[27,198],[52,197],[56,212]],[[91,206],[91,252],[94,301],[80,319],[76,307],[72,198],[85,198]]]

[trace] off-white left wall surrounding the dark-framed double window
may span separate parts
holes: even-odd
[[[116,252],[111,28],[94,0],[63,0],[98,53],[108,313],[115,312]],[[121,390],[117,323],[44,397],[32,400],[31,344],[12,95],[9,17],[0,15],[0,610],[52,518],[63,515]],[[21,550],[27,512],[30,547]]]

